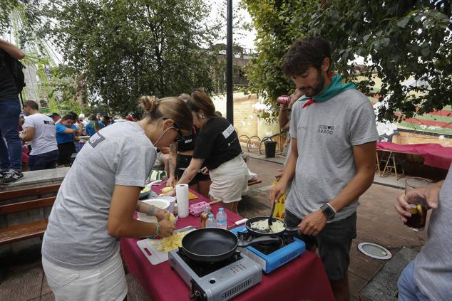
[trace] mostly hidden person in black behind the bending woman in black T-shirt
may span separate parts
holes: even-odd
[[[181,94],[179,95],[179,98],[185,102],[188,102],[188,100],[190,100],[190,95]],[[215,112],[215,114],[217,113]],[[187,167],[190,165],[195,149],[197,132],[198,130],[196,129],[196,127],[193,127],[192,132],[188,136],[180,139],[177,144],[174,143],[170,145],[168,156],[169,176],[166,183],[167,186],[174,186],[176,181],[175,178],[177,177],[178,179],[180,179],[185,169],[187,169]],[[205,166],[202,166],[201,169],[204,167]],[[195,175],[195,178],[192,179],[192,181],[190,181],[190,183],[188,184],[190,185],[190,189],[199,192],[207,199],[209,198],[209,189],[212,181],[210,181],[210,176],[208,174],[203,174],[201,171],[198,171]]]

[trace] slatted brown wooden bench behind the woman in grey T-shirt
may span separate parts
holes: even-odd
[[[42,186],[30,189],[21,189],[13,191],[0,192],[0,201],[8,201],[20,199],[27,196],[37,196],[38,199],[30,201],[19,201],[14,204],[6,204],[0,206],[0,216],[6,214],[29,211],[32,209],[53,206],[56,196],[41,198],[43,194],[51,194],[58,192],[60,184]],[[47,219],[21,223],[19,225],[0,228],[0,245],[22,241],[28,238],[41,237],[47,228]]]

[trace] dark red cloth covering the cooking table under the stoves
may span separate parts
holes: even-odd
[[[158,187],[156,191],[160,191]],[[196,193],[195,193],[196,194]],[[190,201],[195,204],[199,201],[207,201],[196,194],[198,199]],[[212,206],[215,213],[218,206]],[[242,219],[241,216],[227,211],[228,225]],[[177,227],[200,225],[200,218],[188,216],[180,218]],[[137,239],[123,238],[120,248],[123,258],[130,273],[133,273],[151,300],[174,301],[189,300],[190,290],[179,277],[178,273],[171,270],[168,261],[159,265],[151,265],[136,245]],[[299,258],[292,260],[282,268],[269,275],[262,275],[262,282],[235,297],[234,300],[334,300],[324,265],[320,258],[306,251]]]

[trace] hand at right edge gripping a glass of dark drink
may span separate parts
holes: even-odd
[[[440,190],[441,185],[432,184],[428,187],[413,189],[407,194],[399,195],[396,203],[396,211],[397,213],[399,213],[399,218],[401,219],[401,221],[406,223],[406,218],[411,217],[410,203],[415,202],[416,199],[426,199],[428,207],[433,209],[438,208]]]

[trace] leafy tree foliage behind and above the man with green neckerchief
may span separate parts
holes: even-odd
[[[267,96],[294,89],[279,65],[297,38],[324,36],[332,43],[333,68],[367,92],[373,76],[389,95],[380,120],[412,117],[452,104],[452,13],[447,0],[244,0],[257,28],[257,58],[248,71],[252,91]],[[364,80],[356,81],[356,56]],[[425,85],[406,87],[409,78]],[[397,111],[400,115],[394,115]]]

